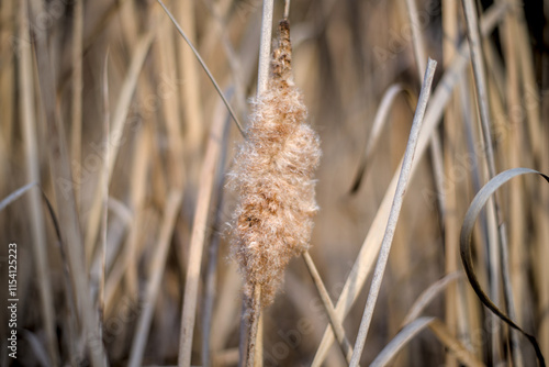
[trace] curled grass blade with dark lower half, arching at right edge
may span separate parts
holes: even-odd
[[[527,175],[527,174],[537,174],[546,179],[549,182],[549,177],[530,168],[512,168],[501,173],[500,175],[492,178],[486,185],[484,185],[480,191],[474,197],[469,210],[467,211],[466,218],[463,220],[463,225],[461,226],[460,233],[460,253],[461,253],[461,262],[463,263],[463,267],[466,269],[467,278],[471,283],[474,292],[481,300],[481,302],[488,307],[494,314],[496,314],[501,320],[507,323],[511,327],[523,333],[524,336],[531,343],[534,349],[536,351],[536,356],[538,357],[539,364],[545,366],[544,355],[539,348],[539,345],[534,335],[526,333],[520,326],[518,326],[513,320],[509,319],[503,311],[501,311],[497,305],[495,305],[490,297],[484,293],[482,287],[477,279],[477,275],[474,273],[473,260],[471,256],[471,237],[474,227],[474,222],[477,221],[477,216],[481,212],[482,208],[486,204],[490,197],[505,182],[511,180],[516,176]]]

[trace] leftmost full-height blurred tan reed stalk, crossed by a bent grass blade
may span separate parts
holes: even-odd
[[[30,27],[27,20],[27,1],[23,0],[19,4],[19,37],[30,40]],[[21,94],[19,97],[19,108],[21,124],[23,130],[23,141],[25,149],[26,180],[29,182],[41,182],[40,174],[40,145],[36,132],[36,111],[34,101],[34,68],[31,45],[23,43],[20,46],[20,66],[18,68],[18,82]],[[49,265],[47,255],[46,229],[42,211],[42,197],[38,190],[29,192],[29,213],[32,226],[32,244],[34,265],[36,267],[37,281],[40,283],[40,304],[43,313],[44,330],[47,336],[47,352],[49,364],[59,363],[59,353],[56,343],[55,314],[52,283],[49,280]]]

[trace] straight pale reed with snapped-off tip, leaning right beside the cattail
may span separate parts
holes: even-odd
[[[350,366],[352,367],[357,367],[360,362],[360,356],[362,355],[366,337],[368,336],[368,330],[370,329],[373,309],[378,300],[381,281],[383,280],[383,273],[389,259],[389,252],[391,251],[394,230],[396,227],[396,222],[399,221],[402,201],[404,199],[404,193],[406,191],[407,181],[412,170],[412,162],[414,159],[415,147],[419,137],[419,131],[422,127],[423,118],[425,115],[425,110],[427,109],[427,101],[429,100],[430,86],[433,84],[433,77],[435,76],[436,66],[437,63],[429,58],[427,63],[427,70],[425,71],[425,77],[422,85],[422,91],[419,93],[419,100],[417,101],[416,112],[414,114],[414,122],[410,132],[406,152],[404,154],[404,160],[402,163],[401,175],[399,177],[396,191],[393,198],[393,205],[389,214],[385,234],[383,236],[380,254],[378,257],[378,264],[376,265],[376,270],[373,271],[372,286],[370,288],[370,293],[368,294],[362,321],[360,322],[360,329],[358,332],[357,341],[355,343],[355,352],[352,353],[352,358],[350,360]]]

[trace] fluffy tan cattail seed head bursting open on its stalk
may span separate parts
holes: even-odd
[[[279,32],[268,89],[253,101],[247,140],[229,174],[238,200],[232,254],[248,300],[254,286],[261,286],[261,308],[272,303],[290,259],[309,248],[318,210],[313,176],[320,140],[305,122],[307,110],[293,82],[288,21],[280,22]]]

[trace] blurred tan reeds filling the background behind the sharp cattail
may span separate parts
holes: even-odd
[[[166,4],[246,124],[261,1]],[[283,5],[276,1],[274,22]],[[479,21],[492,22],[482,24],[482,56],[496,173],[549,174],[549,2],[477,7]],[[385,349],[396,353],[393,366],[534,365],[528,341],[511,336],[462,274],[461,223],[489,169],[471,63],[452,69],[469,59],[459,51],[461,1],[294,0],[290,23],[295,81],[323,149],[310,254],[351,345],[427,55],[439,63],[434,96],[451,93],[438,105],[444,115],[429,118],[440,121],[432,148],[416,154],[361,364],[381,356],[418,301],[436,323],[399,353]],[[8,244],[18,244],[20,337],[15,360],[2,290],[0,365],[175,365],[183,299],[195,291],[192,365],[236,366],[242,282],[228,259],[234,196],[224,180],[243,137],[172,22],[156,1],[3,0],[0,32],[0,198],[40,182],[54,213],[36,186],[0,212],[5,290]],[[508,277],[514,320],[547,357],[549,188],[515,178],[498,199],[508,268],[488,240],[488,213],[473,233],[475,269],[501,305]],[[328,319],[306,269],[291,262],[265,312],[265,366],[346,365],[325,336]],[[338,302],[341,293],[351,296]]]

